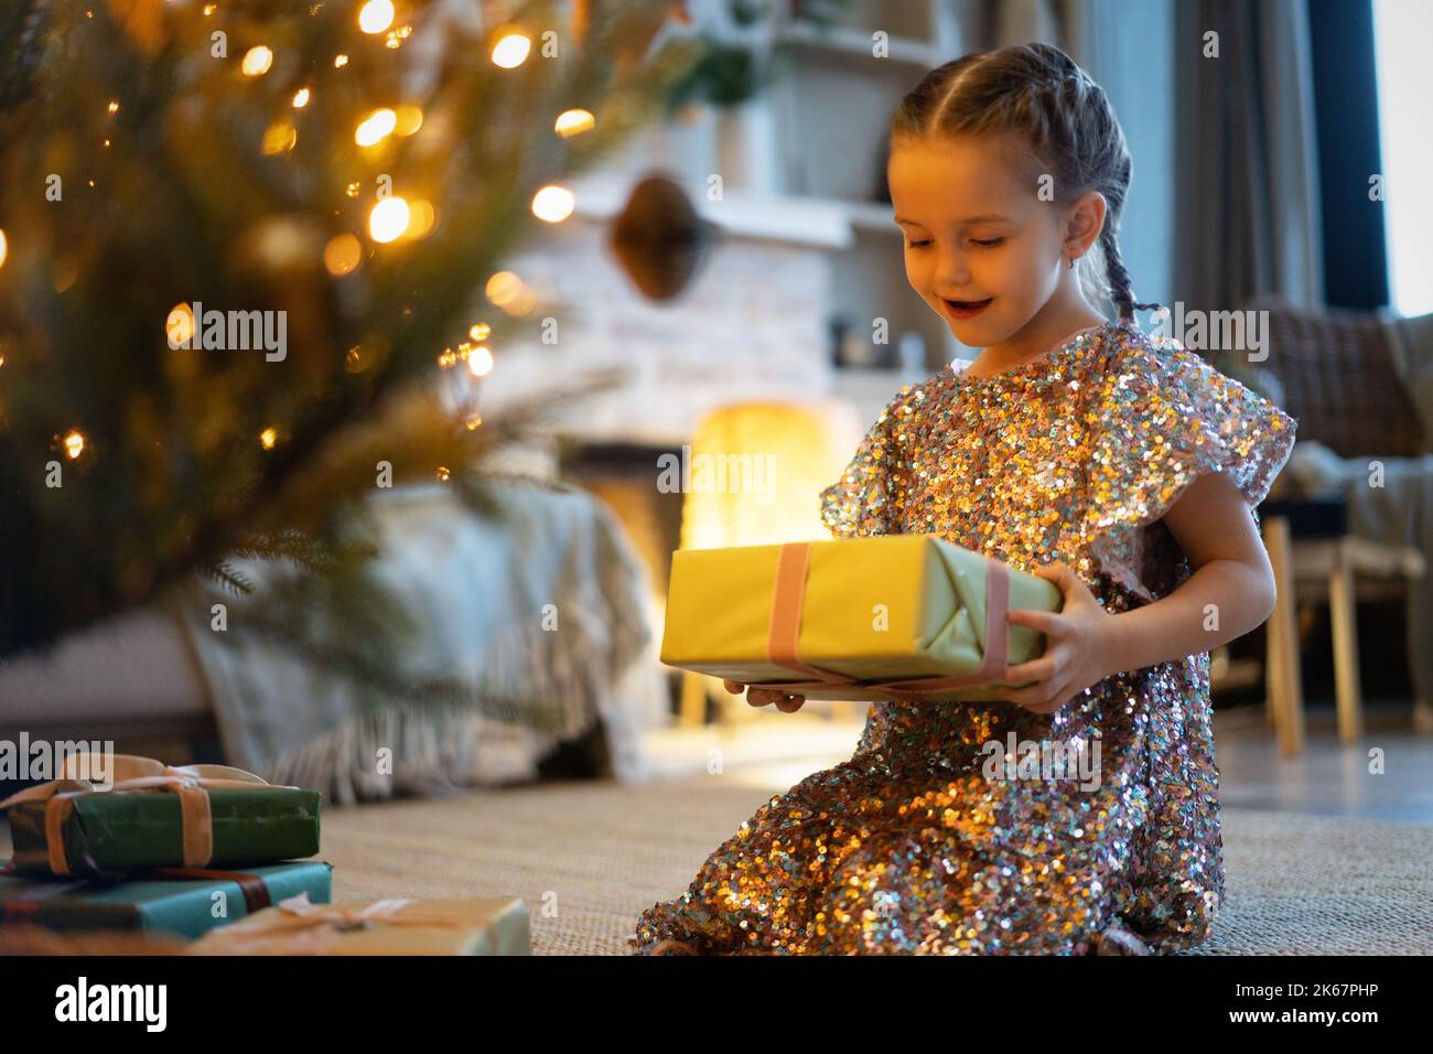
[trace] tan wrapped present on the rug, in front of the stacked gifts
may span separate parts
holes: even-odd
[[[195,955],[532,955],[510,896],[318,906],[295,896],[208,934]]]

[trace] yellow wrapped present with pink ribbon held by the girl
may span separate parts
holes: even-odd
[[[808,698],[993,700],[1043,652],[1050,582],[934,535],[678,549],[662,663]]]

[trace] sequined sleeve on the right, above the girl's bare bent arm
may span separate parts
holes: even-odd
[[[1155,522],[1202,475],[1224,472],[1258,505],[1294,446],[1295,422],[1174,340],[1131,341],[1096,381],[1089,535]],[[1106,545],[1112,545],[1109,541]]]

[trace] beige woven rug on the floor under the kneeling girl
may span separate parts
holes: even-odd
[[[622,955],[770,792],[695,777],[567,782],[334,809],[334,899],[512,895],[539,955]],[[1224,810],[1225,905],[1208,955],[1433,954],[1433,826]]]

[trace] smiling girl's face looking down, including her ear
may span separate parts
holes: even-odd
[[[1012,136],[898,141],[891,149],[906,277],[967,347],[1007,341],[1052,297],[1083,301],[1063,254],[1083,251],[1099,224],[1070,241],[1069,212],[1042,199],[1027,158]],[[1103,221],[1103,198],[1091,196]]]

